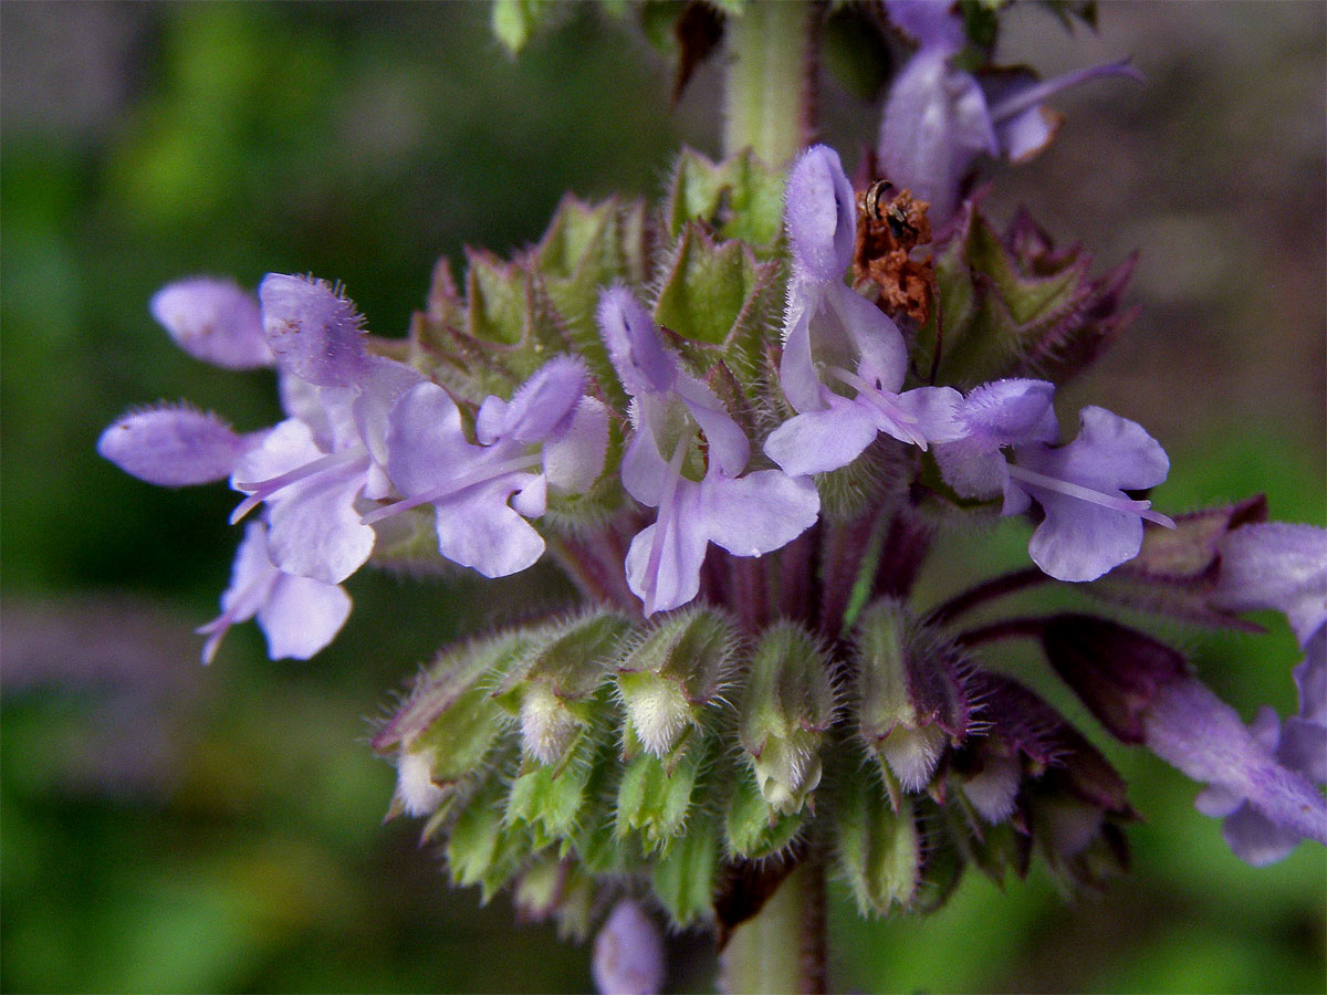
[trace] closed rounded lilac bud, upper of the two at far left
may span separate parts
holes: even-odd
[[[192,357],[232,370],[271,366],[257,300],[232,280],[192,276],[153,295],[153,317]]]

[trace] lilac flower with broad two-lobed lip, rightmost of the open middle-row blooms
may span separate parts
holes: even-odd
[[[1160,484],[1170,464],[1141,426],[1103,407],[1083,409],[1078,439],[1047,444],[1059,434],[1054,390],[1028,379],[977,387],[958,415],[966,436],[937,446],[936,459],[961,496],[1003,494],[1003,515],[1018,515],[1035,500],[1044,519],[1028,547],[1032,561],[1059,580],[1089,581],[1137,556],[1143,519],[1174,528],[1151,501],[1124,494]]]

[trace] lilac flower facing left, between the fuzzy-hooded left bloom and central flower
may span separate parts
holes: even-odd
[[[524,570],[544,552],[525,521],[548,507],[548,492],[580,494],[604,467],[608,409],[585,397],[585,366],[557,357],[511,402],[490,397],[472,444],[460,410],[442,387],[419,383],[391,411],[387,475],[405,500],[364,516],[366,524],[433,504],[438,551],[486,577]]]

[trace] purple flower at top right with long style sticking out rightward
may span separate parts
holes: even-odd
[[[958,210],[963,179],[979,155],[1026,159],[1054,138],[1060,119],[1042,102],[1060,90],[1105,76],[1141,80],[1128,62],[1082,69],[1038,82],[1027,72],[994,77],[982,88],[950,60],[965,33],[953,5],[890,3],[889,15],[918,42],[894,80],[880,123],[877,154],[885,175],[930,204],[932,224]]]

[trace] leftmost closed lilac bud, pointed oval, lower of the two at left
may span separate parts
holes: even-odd
[[[263,436],[239,435],[188,405],[157,405],[121,415],[97,439],[97,452],[139,480],[186,487],[224,480]]]

